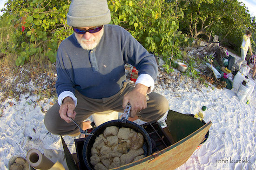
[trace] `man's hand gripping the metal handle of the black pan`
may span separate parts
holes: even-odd
[[[147,107],[146,94],[148,87],[143,84],[136,84],[135,88],[126,94],[123,98],[123,108],[125,109],[128,103],[131,104],[130,117],[134,118],[135,115]]]

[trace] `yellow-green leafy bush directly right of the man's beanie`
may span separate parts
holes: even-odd
[[[182,32],[176,32],[179,21],[176,2],[165,0],[110,0],[112,23],[127,29],[148,51],[163,56],[169,62],[172,48],[179,58],[178,46],[185,41]],[[175,34],[176,38],[175,38]],[[175,41],[173,39],[175,38]]]

